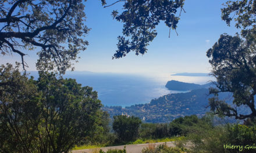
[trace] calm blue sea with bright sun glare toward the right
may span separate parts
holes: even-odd
[[[38,77],[36,72],[31,75]],[[83,86],[90,86],[98,92],[98,99],[107,106],[130,106],[134,104],[150,103],[166,94],[188,91],[168,90],[165,85],[168,81],[176,81],[204,84],[208,83],[211,77],[191,77],[171,74],[162,75],[137,75],[137,74],[116,74],[88,71],[66,72],[64,78],[76,79]]]

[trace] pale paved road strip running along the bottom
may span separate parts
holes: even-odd
[[[125,146],[126,146],[127,153],[140,153],[141,150],[143,150],[143,148],[147,148],[149,146],[152,147],[153,145],[155,145],[155,147],[157,147],[157,145],[159,145],[159,144],[165,144],[165,143],[119,145],[119,146],[96,148],[96,149],[90,149],[90,150],[76,150],[76,151],[72,151],[72,153],[92,153],[95,150],[99,151],[99,149],[102,149],[105,152],[109,149],[122,150]],[[175,147],[174,141],[166,142],[166,145],[168,147]]]

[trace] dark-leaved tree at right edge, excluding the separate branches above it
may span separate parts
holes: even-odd
[[[212,65],[212,75],[217,88],[211,88],[215,97],[209,99],[215,114],[234,116],[236,119],[255,118],[256,95],[256,46],[255,42],[223,34],[218,42],[207,51]],[[233,106],[219,100],[219,92],[233,94]],[[250,114],[240,114],[237,107],[250,108]]]

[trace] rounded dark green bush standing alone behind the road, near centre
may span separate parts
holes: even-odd
[[[118,135],[120,142],[127,142],[137,138],[138,128],[141,124],[141,119],[134,116],[113,116],[113,130]]]

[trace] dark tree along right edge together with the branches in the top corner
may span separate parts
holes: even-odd
[[[234,116],[236,119],[254,119],[256,116],[254,97],[256,94],[255,53],[256,53],[256,1],[227,1],[222,9],[222,20],[230,25],[234,19],[236,28],[241,29],[241,38],[222,34],[218,42],[207,51],[212,65],[212,75],[216,78],[216,88],[210,93],[215,96],[209,99],[211,111],[221,116]],[[233,94],[233,105],[219,100],[218,93]],[[246,107],[251,111],[240,114],[239,108]]]

